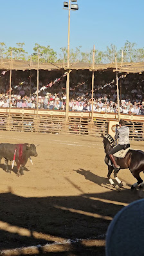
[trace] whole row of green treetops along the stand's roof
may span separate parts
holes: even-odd
[[[35,43],[33,48],[33,53],[31,57],[28,56],[28,53],[24,50],[24,42],[17,42],[16,47],[6,47],[4,42],[0,42],[0,57],[10,59],[11,51],[12,58],[16,60],[32,60],[37,62],[38,53],[40,62],[61,62],[67,63],[67,48],[60,48],[59,58],[57,58],[57,52],[53,50],[49,45],[40,46],[40,44]],[[137,48],[135,42],[126,41],[123,48],[120,50],[117,49],[116,45],[110,44],[107,46],[105,51],[95,50],[95,63],[114,63],[115,54],[117,61],[121,62],[122,60],[122,50],[123,50],[123,62],[143,62],[144,60],[144,48]],[[78,46],[75,49],[71,48],[69,53],[70,62],[87,62],[92,63],[93,60],[93,50],[91,51],[82,51],[82,46]]]

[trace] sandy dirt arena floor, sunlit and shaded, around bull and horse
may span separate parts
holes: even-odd
[[[102,138],[1,131],[0,142],[39,144],[24,176],[0,164],[0,255],[104,256],[109,223],[140,197],[128,169],[120,192],[109,184]]]

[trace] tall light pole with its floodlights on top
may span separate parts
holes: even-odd
[[[68,14],[68,38],[67,38],[67,79],[66,79],[66,122],[69,120],[69,41],[70,41],[70,14],[71,10],[78,10],[78,5],[71,4],[77,0],[64,2],[64,9],[69,11]]]

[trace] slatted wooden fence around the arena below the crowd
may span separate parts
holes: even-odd
[[[115,119],[113,119],[115,120]],[[93,118],[91,115],[69,116],[68,122],[63,115],[30,114],[30,113],[0,113],[0,130],[23,131],[30,133],[58,133],[76,134],[82,136],[101,136],[108,133],[109,120],[107,118]],[[139,120],[130,121],[127,124],[130,129],[131,140],[144,140],[144,122]]]

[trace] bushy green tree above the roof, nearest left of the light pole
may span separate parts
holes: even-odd
[[[32,54],[32,60],[37,61],[38,53],[40,57],[40,62],[55,62],[57,60],[57,53],[50,46],[40,46],[40,44],[35,44],[33,48],[34,53]]]

